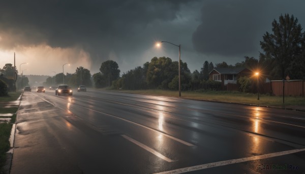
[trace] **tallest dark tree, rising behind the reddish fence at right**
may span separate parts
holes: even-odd
[[[290,17],[289,14],[285,14],[279,17],[279,22],[273,20],[273,33],[266,32],[264,34],[263,41],[260,42],[260,45],[265,52],[264,57],[275,62],[269,61],[278,69],[276,78],[285,79],[285,76],[295,74],[297,71],[305,74],[304,68],[295,66],[305,61],[304,57],[301,56],[303,51],[302,46],[305,42],[305,33],[302,33],[301,30],[302,28],[298,24],[297,18],[294,18],[293,15]]]

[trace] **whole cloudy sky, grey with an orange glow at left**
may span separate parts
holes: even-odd
[[[14,63],[25,75],[91,74],[114,60],[121,74],[151,58],[181,59],[191,72],[205,60],[235,64],[258,58],[259,42],[281,14],[305,26],[302,0],[10,0],[0,2],[0,67]],[[304,29],[302,30],[304,31]],[[25,70],[26,69],[26,70]]]

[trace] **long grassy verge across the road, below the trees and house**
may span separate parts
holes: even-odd
[[[113,90],[128,93],[140,93],[151,95],[163,95],[178,97],[178,91],[169,90]],[[262,106],[283,106],[283,96],[269,96],[260,95],[259,100],[257,94],[242,93],[237,91],[182,91],[181,98],[209,100],[209,101],[221,101],[221,102],[233,102],[233,103],[245,103],[249,105],[262,105]],[[305,106],[305,97],[289,97],[285,96],[285,106]]]

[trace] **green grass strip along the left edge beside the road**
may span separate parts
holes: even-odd
[[[0,97],[0,102],[9,102],[15,101],[21,95],[21,92],[9,92],[8,96]],[[0,107],[1,104],[0,104]],[[12,126],[13,123],[16,121],[16,112],[18,107],[13,108],[1,108],[0,114],[7,114],[7,113],[15,113],[13,114],[10,122],[5,122],[0,124],[0,173],[4,173],[3,166],[6,162],[6,153],[10,150],[10,141],[9,138],[11,136]],[[8,118],[8,117],[6,117]]]

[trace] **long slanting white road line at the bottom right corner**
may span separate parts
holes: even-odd
[[[240,163],[240,162],[253,161],[253,160],[259,160],[259,159],[265,159],[265,158],[271,158],[271,157],[277,157],[277,156],[283,156],[283,155],[288,155],[288,154],[297,153],[297,152],[301,152],[301,151],[305,151],[305,149],[294,149],[294,150],[270,153],[270,154],[265,154],[265,155],[258,155],[258,156],[252,156],[252,157],[246,157],[246,158],[232,159],[232,160],[227,160],[227,161],[212,162],[212,163],[208,163],[208,164],[201,164],[201,165],[196,165],[196,166],[192,166],[192,167],[179,168],[179,169],[164,171],[164,172],[155,173],[155,174],[184,173],[184,172],[201,170],[201,169],[211,168],[211,167],[218,167],[218,166],[223,166],[223,165],[228,165],[228,164],[235,164],[235,163]]]

